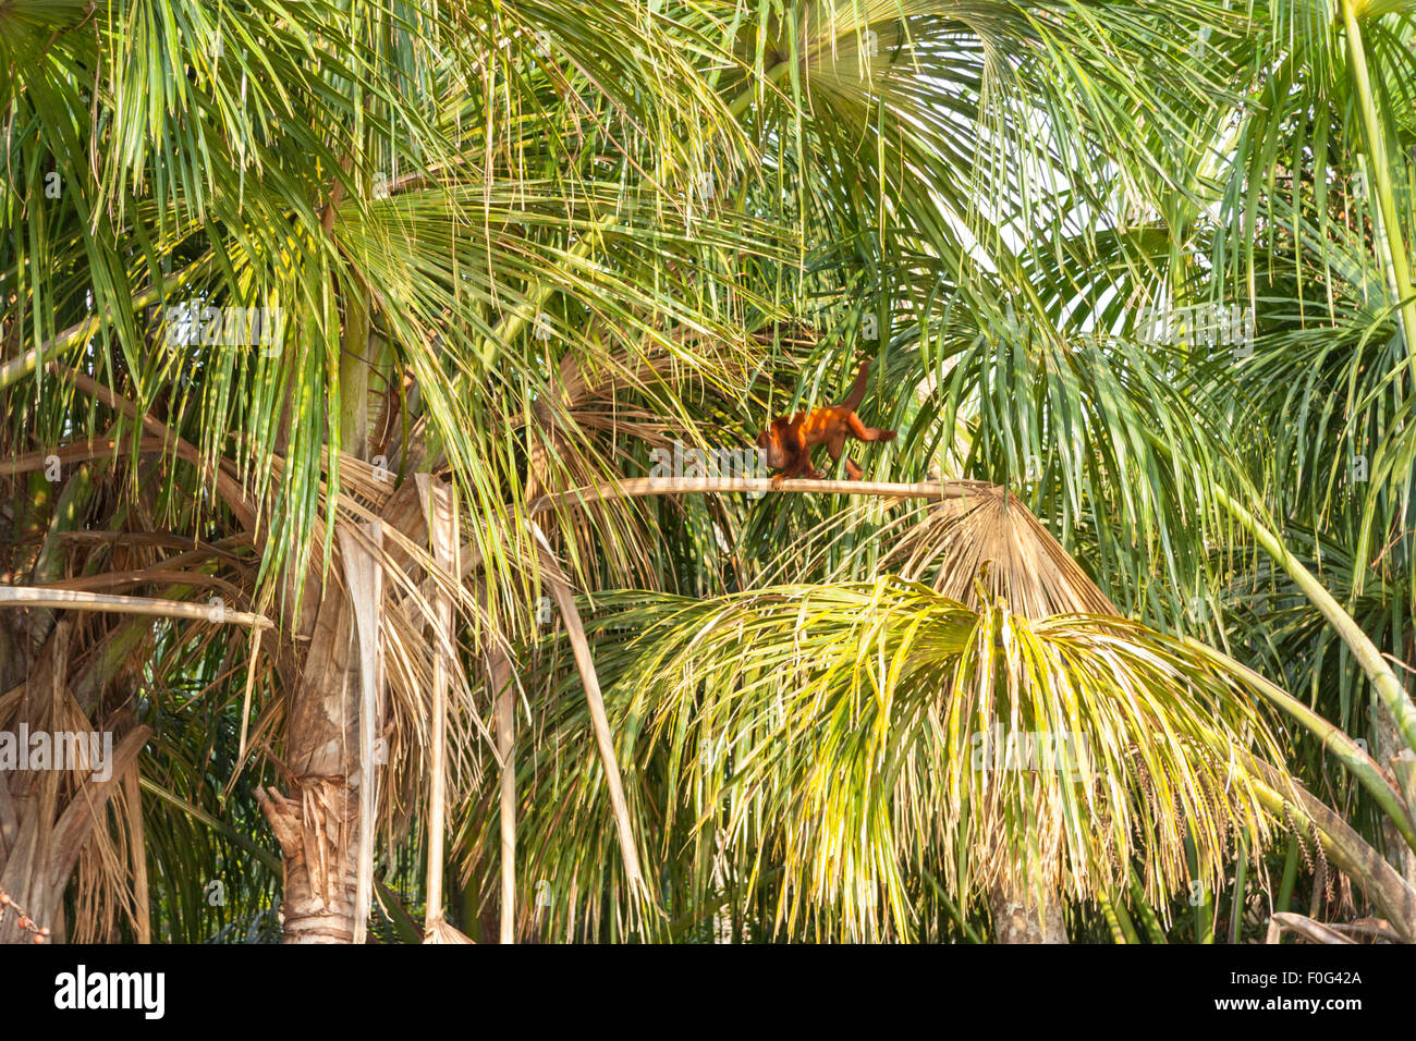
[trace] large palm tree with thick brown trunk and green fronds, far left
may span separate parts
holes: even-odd
[[[595,387],[667,388],[666,418],[687,374],[732,371],[752,297],[722,261],[770,261],[773,232],[685,211],[680,188],[702,180],[707,137],[741,135],[667,20],[616,6],[17,4],[0,20],[17,174],[0,384],[7,474],[25,490],[10,575],[35,605],[11,637],[13,718],[51,711],[27,691],[67,649],[85,671],[55,688],[142,745],[142,718],[188,700],[147,656],[198,676],[200,652],[225,644],[195,693],[229,717],[236,691],[222,782],[255,749],[279,768],[253,779],[287,795],[246,790],[285,853],[286,936],[353,939],[375,755],[392,766],[378,821],[396,836],[442,751],[428,680],[449,661],[455,795],[486,732],[480,683],[421,633],[438,609],[418,585],[435,568],[412,476],[452,467],[489,524],[477,579],[452,581],[466,644],[534,625],[515,514],[544,482],[524,469],[531,405],[558,408],[545,336]],[[598,255],[578,259],[582,244]],[[259,331],[234,309],[256,309]],[[372,620],[351,602],[361,552],[382,565]],[[75,646],[55,599],[139,615],[86,616]],[[375,647],[382,705],[360,661]],[[387,735],[354,727],[361,707]],[[176,768],[178,748],[156,755]],[[163,795],[200,802],[214,751]],[[54,827],[52,806],[34,812],[35,834]],[[6,851],[17,898],[62,891]]]

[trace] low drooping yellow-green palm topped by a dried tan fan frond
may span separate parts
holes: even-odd
[[[792,938],[915,939],[937,919],[969,929],[981,897],[998,940],[1066,942],[1063,897],[1136,885],[1165,906],[1192,881],[1222,884],[1240,833],[1256,851],[1280,827],[1245,759],[1280,758],[1260,698],[1116,618],[1015,499],[956,490],[896,524],[936,588],[885,576],[610,602],[596,661],[615,677],[650,889],[671,905],[636,928],[671,936],[674,911],[731,904]],[[966,593],[980,569],[963,558],[980,550],[990,567]],[[554,880],[544,929],[593,929],[575,923],[589,915],[613,935],[590,898],[613,860],[607,810],[568,678],[552,664],[539,698],[523,885]],[[498,813],[480,803],[469,850],[489,848]]]

